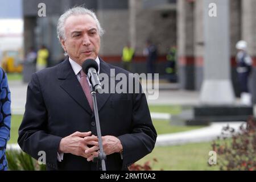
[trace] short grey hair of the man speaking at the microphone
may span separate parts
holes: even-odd
[[[59,40],[66,39],[64,23],[69,16],[71,16],[71,15],[86,15],[86,14],[92,16],[92,18],[95,20],[96,26],[98,28],[98,34],[100,36],[102,36],[104,34],[104,30],[101,28],[101,24],[98,21],[96,14],[93,11],[88,10],[84,7],[77,6],[77,7],[73,7],[72,9],[65,11],[65,13],[60,16],[58,23],[57,23],[57,35],[58,35]]]

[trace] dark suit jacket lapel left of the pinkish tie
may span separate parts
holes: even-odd
[[[69,63],[68,57],[59,65],[57,71],[59,80],[63,80],[60,87],[69,94],[82,108],[84,108],[89,114],[92,114],[90,105],[86,99],[84,91],[77,80],[75,73]]]

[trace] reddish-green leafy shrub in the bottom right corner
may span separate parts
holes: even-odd
[[[232,127],[224,127],[212,147],[218,154],[221,170],[256,170],[256,119],[250,117],[237,132]]]

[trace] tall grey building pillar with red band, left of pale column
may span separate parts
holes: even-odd
[[[195,89],[194,3],[177,1],[177,51],[181,89]]]

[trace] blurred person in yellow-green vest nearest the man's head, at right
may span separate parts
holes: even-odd
[[[134,57],[134,48],[130,46],[130,43],[127,46],[123,47],[123,54],[122,54],[122,64],[123,69],[131,72],[131,62]]]

